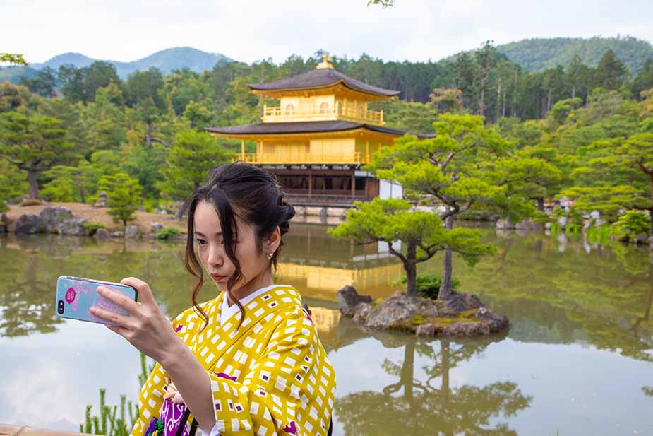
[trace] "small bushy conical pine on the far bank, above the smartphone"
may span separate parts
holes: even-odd
[[[127,225],[128,221],[136,219],[133,213],[140,205],[140,191],[143,189],[138,184],[138,180],[124,172],[119,172],[112,176],[103,176],[97,189],[107,192],[109,215],[116,223],[122,221]]]

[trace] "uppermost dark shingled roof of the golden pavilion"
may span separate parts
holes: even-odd
[[[383,97],[394,97],[400,91],[379,88],[378,86],[371,86],[367,83],[357,81],[355,78],[347,77],[345,74],[335,71],[331,68],[318,68],[308,73],[299,74],[297,76],[284,78],[280,81],[270,83],[258,83],[249,85],[253,90],[272,91],[282,89],[311,89],[311,88],[325,88],[327,86],[335,85],[342,81],[342,83],[353,90],[360,91],[361,93],[368,93],[373,95],[381,95]]]

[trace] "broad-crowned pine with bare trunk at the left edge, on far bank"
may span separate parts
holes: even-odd
[[[6,112],[0,114],[0,157],[28,174],[30,196],[39,197],[37,175],[74,156],[66,141],[66,130],[52,117]]]

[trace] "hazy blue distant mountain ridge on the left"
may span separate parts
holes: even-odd
[[[77,68],[83,68],[97,60],[99,59],[92,59],[80,53],[64,53],[59,54],[42,64],[30,64],[30,67],[37,70],[43,69],[46,66],[53,69],[59,69],[59,66],[61,65],[73,64]],[[109,64],[116,67],[118,76],[126,78],[134,71],[143,71],[152,67],[160,69],[164,74],[168,74],[174,69],[183,68],[188,68],[191,69],[191,71],[201,73],[204,70],[213,69],[213,66],[215,66],[218,61],[222,60],[231,62],[234,59],[230,59],[229,57],[224,56],[224,54],[207,53],[198,49],[193,49],[192,47],[175,47],[172,49],[161,50],[155,54],[150,54],[150,56],[138,59],[137,61],[119,62],[107,60],[106,62],[109,62]]]

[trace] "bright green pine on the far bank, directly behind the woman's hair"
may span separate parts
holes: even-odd
[[[205,182],[211,168],[229,163],[233,158],[210,134],[180,132],[174,137],[167,167],[162,170],[161,191],[173,200],[185,200]]]

